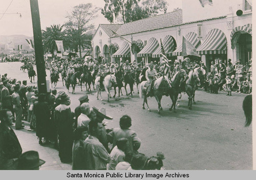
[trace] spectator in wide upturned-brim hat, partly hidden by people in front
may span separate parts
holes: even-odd
[[[111,116],[106,115],[106,109],[100,108],[99,110],[93,107],[93,111],[96,114],[96,121],[98,122],[98,126],[101,128],[101,133],[99,135],[99,141],[103,144],[108,152],[109,150],[109,141],[106,134],[105,124],[102,123],[104,119],[113,119]]]

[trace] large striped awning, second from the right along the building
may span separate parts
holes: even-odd
[[[211,30],[205,37],[204,42],[198,47],[199,55],[227,54],[227,39],[219,29]]]

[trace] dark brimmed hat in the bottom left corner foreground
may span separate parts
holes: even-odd
[[[43,164],[45,164],[45,161],[39,159],[38,152],[30,150],[20,155],[13,165],[18,170],[31,170]]]

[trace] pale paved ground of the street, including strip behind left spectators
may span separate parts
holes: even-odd
[[[9,78],[29,82],[27,72],[19,69],[21,65],[20,62],[0,63],[0,74],[8,73]],[[50,79],[48,70],[47,79]],[[67,92],[61,81],[56,89]],[[232,96],[226,96],[226,92],[209,94],[199,89],[196,91],[196,104],[193,104],[192,110],[187,107],[187,95],[182,94],[177,113],[168,111],[172,102],[169,97],[164,96],[161,103],[163,111],[159,115],[154,97],[148,98],[152,112],[142,110],[143,99],[139,98],[136,87],[133,97],[123,95],[120,98],[111,98],[110,102],[106,101],[106,92],[102,92],[101,101],[96,100],[96,91],[85,90],[85,87],[81,91],[80,87],[76,86],[75,94],[69,93],[72,110],[79,105],[78,98],[86,93],[91,107],[105,107],[106,113],[114,118],[104,120],[108,122],[106,128],[118,127],[120,117],[130,115],[131,129],[142,140],[139,151],[148,157],[162,151],[166,169],[252,169],[252,128],[244,127],[245,116],[242,110],[242,101],[246,94],[233,93]],[[125,94],[124,89],[122,91]],[[114,95],[113,90],[111,94]],[[58,151],[53,148],[53,144],[39,145],[35,132],[26,130],[29,128],[26,121],[25,127],[24,130],[14,131],[23,152],[37,150],[39,157],[46,161],[41,170],[71,169],[71,164],[60,162]]]

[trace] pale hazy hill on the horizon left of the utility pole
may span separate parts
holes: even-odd
[[[31,51],[29,48],[29,44],[26,41],[26,39],[32,39],[33,37],[25,36],[25,35],[11,35],[11,36],[0,36],[0,53],[1,52],[6,52],[8,49],[3,49],[6,48],[7,46],[5,44],[10,44],[11,47],[14,46],[14,49],[17,50],[18,45],[22,45],[24,50]]]

